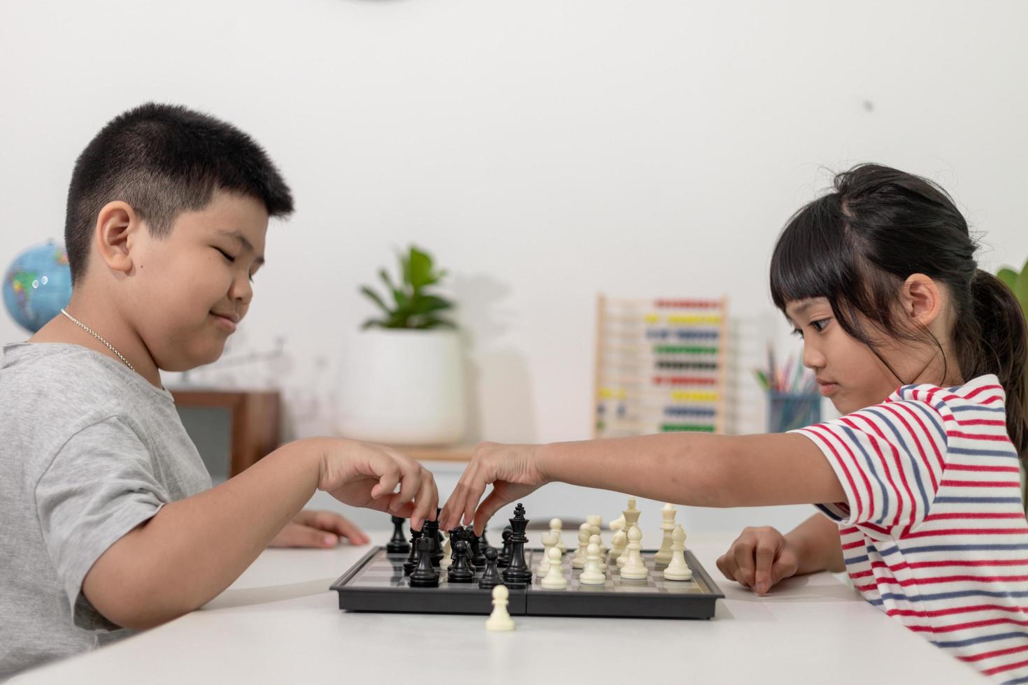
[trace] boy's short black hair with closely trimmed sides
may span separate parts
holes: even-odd
[[[264,150],[235,126],[180,105],[147,103],[109,121],[79,155],[68,188],[65,249],[72,282],[85,273],[97,215],[122,200],[164,236],[215,190],[250,195],[270,217],[293,211],[289,186]]]

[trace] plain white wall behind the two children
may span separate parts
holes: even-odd
[[[231,350],[288,356],[194,378],[273,376],[294,434],[329,429],[357,288],[416,241],[453,274],[473,436],[577,439],[595,294],[727,294],[777,325],[770,251],[824,166],[937,179],[984,266],[1020,264],[1026,25],[1017,1],[5,0],[0,267],[60,238],[104,122],[186,104],[253,134],[298,207]]]

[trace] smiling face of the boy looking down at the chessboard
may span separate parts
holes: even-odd
[[[266,233],[263,202],[221,191],[179,215],[169,235],[140,232],[133,319],[158,368],[185,371],[221,356],[253,299]]]

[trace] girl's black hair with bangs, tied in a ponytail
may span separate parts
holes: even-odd
[[[1006,391],[1006,431],[1024,458],[1025,317],[1011,289],[978,268],[977,248],[967,222],[938,185],[888,166],[859,164],[835,177],[834,192],[790,219],[771,258],[771,297],[782,311],[795,300],[828,298],[843,330],[883,363],[875,344],[881,334],[928,342],[943,355],[946,378],[951,360],[939,340],[905,320],[896,307],[900,288],[911,274],[945,283],[955,314],[955,361],[965,381],[983,374],[999,378]],[[909,382],[896,378],[900,384]]]

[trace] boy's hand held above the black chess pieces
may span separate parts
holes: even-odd
[[[325,441],[318,489],[351,506],[409,518],[414,530],[435,519],[439,504],[436,481],[421,464],[392,448],[350,440]]]

